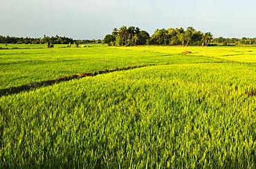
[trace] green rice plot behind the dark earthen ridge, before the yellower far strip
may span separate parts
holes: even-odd
[[[15,48],[15,45],[13,46]],[[91,44],[87,45],[91,47],[86,48],[61,48],[61,45],[60,48],[33,46],[33,49],[0,50],[0,89],[120,66],[220,61],[181,54],[182,49],[180,52],[168,53],[107,48],[107,46]]]

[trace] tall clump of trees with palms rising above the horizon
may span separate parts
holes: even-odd
[[[163,45],[163,46],[208,46],[212,40],[211,32],[200,32],[188,27],[157,29],[152,36],[145,30],[134,26],[113,28],[112,34],[104,37],[104,43],[109,46]]]

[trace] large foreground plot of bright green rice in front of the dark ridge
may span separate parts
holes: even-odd
[[[255,168],[256,67],[149,66],[0,98],[3,168]]]

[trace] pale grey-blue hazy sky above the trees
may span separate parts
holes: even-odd
[[[188,28],[256,37],[255,0],[0,0],[0,35],[104,39],[113,28]]]

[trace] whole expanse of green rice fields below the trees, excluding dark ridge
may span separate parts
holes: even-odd
[[[255,54],[234,46],[0,50],[0,89],[154,64],[1,96],[0,168],[256,168]]]

